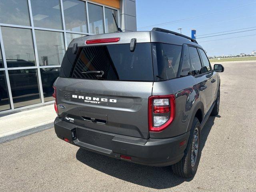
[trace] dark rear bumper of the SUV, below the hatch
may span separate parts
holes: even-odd
[[[77,126],[58,117],[54,121],[54,129],[59,138],[67,138],[78,147],[118,159],[123,154],[131,157],[126,161],[149,166],[169,166],[180,161],[186,144],[182,147],[179,144],[189,137],[187,132],[165,139],[136,138]]]

